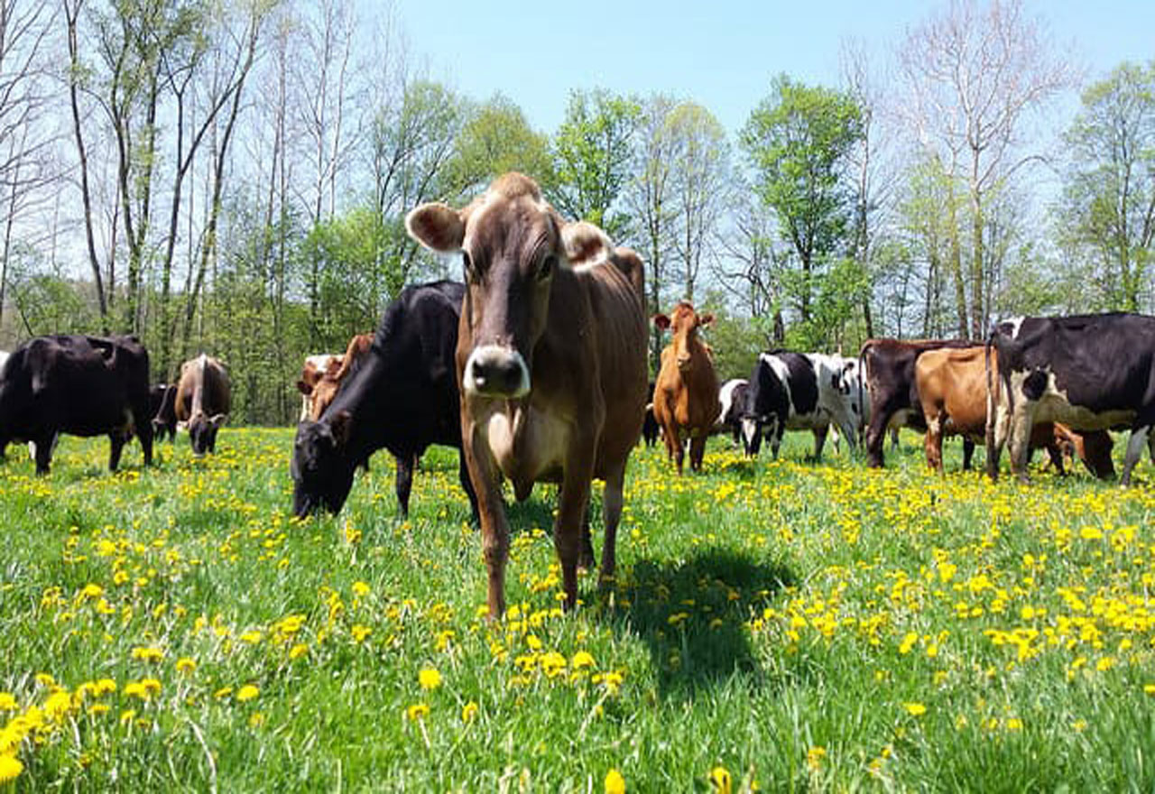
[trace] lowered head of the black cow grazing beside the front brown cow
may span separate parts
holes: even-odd
[[[304,518],[318,510],[341,511],[356,470],[346,455],[349,428],[348,411],[338,411],[331,420],[306,420],[297,426],[290,465],[293,515]]]

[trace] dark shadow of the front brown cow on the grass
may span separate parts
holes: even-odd
[[[681,562],[641,560],[599,592],[616,630],[640,637],[663,697],[693,696],[755,675],[746,623],[795,583],[789,569],[707,550]]]

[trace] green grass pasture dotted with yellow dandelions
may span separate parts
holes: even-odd
[[[715,439],[681,479],[639,448],[572,615],[539,486],[500,623],[450,450],[409,520],[379,454],[298,523],[290,429],[114,475],[106,440],[42,479],[13,447],[0,791],[1150,791],[1152,464],[992,486],[919,442],[870,471]]]

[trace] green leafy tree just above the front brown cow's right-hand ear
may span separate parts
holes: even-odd
[[[553,138],[557,181],[544,186],[551,203],[569,218],[601,226],[611,238],[623,237],[628,220],[614,214],[613,205],[629,179],[640,119],[636,99],[603,89],[572,91]]]

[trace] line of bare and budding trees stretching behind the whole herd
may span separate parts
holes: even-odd
[[[737,130],[603,88],[537,130],[358,8],[0,0],[0,346],[131,332],[156,380],[209,351],[239,421],[286,422],[305,354],[460,276],[404,214],[509,170],[642,254],[650,313],[714,310],[728,376],[770,346],[1155,307],[1155,61],[1087,81],[1019,0],[931,9],[884,62],[844,43],[839,85],[778,75]]]

